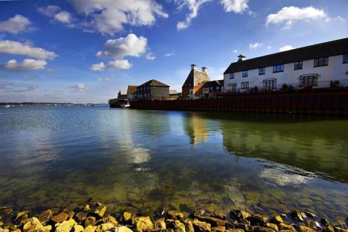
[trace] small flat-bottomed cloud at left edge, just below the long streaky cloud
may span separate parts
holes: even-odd
[[[22,63],[17,63],[15,59],[8,61],[6,64],[2,65],[1,68],[4,70],[15,71],[15,72],[25,72],[33,70],[42,70],[47,64],[44,60],[35,59],[24,59]]]

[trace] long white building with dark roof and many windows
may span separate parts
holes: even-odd
[[[348,38],[244,60],[223,72],[225,93],[348,86]]]

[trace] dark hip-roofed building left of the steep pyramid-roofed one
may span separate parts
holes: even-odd
[[[169,86],[152,79],[136,87],[138,100],[168,100]]]

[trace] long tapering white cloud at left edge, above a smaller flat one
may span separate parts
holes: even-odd
[[[37,59],[54,59],[57,56],[54,52],[13,40],[0,40],[0,53],[26,55]]]

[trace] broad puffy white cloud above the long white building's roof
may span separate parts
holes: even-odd
[[[298,8],[296,6],[285,6],[275,14],[267,16],[266,25],[284,24],[283,29],[290,29],[294,21],[299,20],[321,20],[328,18],[324,10],[309,6]]]

